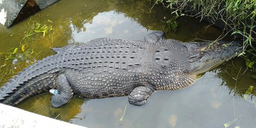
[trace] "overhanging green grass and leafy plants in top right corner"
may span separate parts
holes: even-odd
[[[217,40],[228,33],[242,38],[243,51],[239,56],[244,56],[247,68],[256,73],[256,0],[156,0],[158,3],[171,8],[178,17],[185,15],[183,10],[191,9],[201,20],[222,21],[225,28]]]

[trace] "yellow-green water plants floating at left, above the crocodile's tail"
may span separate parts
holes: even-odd
[[[0,66],[0,70],[2,67],[5,67],[5,69],[7,69],[5,71],[1,71],[0,82],[5,81],[4,78],[7,78],[6,76],[13,75],[13,69],[16,69],[16,64],[19,64],[21,66],[21,62],[26,62],[26,65],[30,65],[36,61],[36,58],[40,55],[40,52],[36,53],[33,49],[28,48],[30,47],[33,40],[37,40],[38,38],[45,38],[45,36],[48,35],[52,42],[55,36],[55,31],[52,28],[52,21],[50,21],[49,19],[47,21],[41,21],[41,17],[43,16],[40,16],[40,14],[36,14],[30,18],[30,20],[28,21],[28,26],[25,26],[26,28],[24,31],[24,37],[22,38],[19,46],[11,47],[7,51],[0,52],[1,62],[3,62],[3,64]],[[12,36],[13,35],[10,35],[11,38]],[[10,61],[13,65],[8,65]],[[8,66],[8,68],[6,68],[6,66]]]

